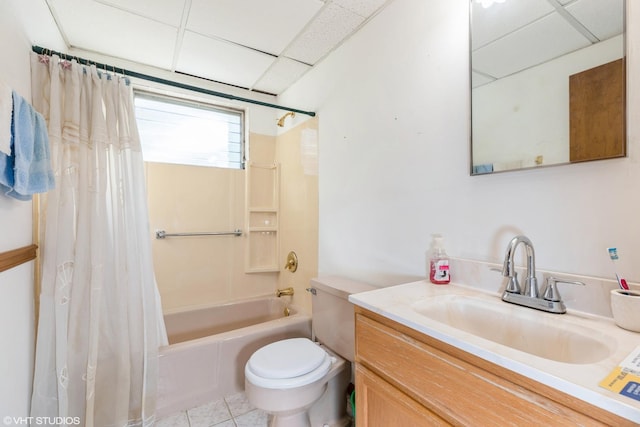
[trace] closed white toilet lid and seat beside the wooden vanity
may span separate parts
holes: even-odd
[[[251,383],[264,388],[301,387],[324,377],[332,358],[307,338],[291,338],[256,351],[245,366]]]

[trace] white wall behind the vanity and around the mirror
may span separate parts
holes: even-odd
[[[616,246],[639,281],[640,5],[628,3],[625,159],[469,176],[468,0],[396,0],[283,94],[319,114],[320,273],[398,283],[425,274],[431,233],[485,261],[524,233],[538,268],[611,277]]]

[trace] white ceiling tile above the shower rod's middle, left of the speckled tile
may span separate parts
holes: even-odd
[[[274,61],[271,55],[186,31],[176,71],[251,88]]]

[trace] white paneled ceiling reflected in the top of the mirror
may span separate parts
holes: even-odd
[[[472,6],[473,86],[623,32],[624,0],[505,0]]]

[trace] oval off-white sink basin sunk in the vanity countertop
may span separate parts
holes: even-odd
[[[556,362],[587,364],[607,358],[604,334],[530,308],[464,295],[417,301],[411,309],[431,320]]]

